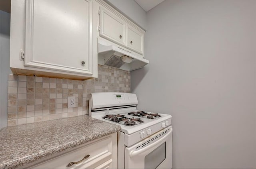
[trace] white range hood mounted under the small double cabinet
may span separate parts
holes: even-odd
[[[98,38],[98,64],[133,71],[149,63],[142,55]]]

